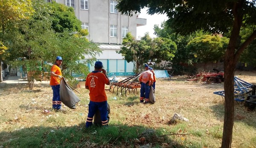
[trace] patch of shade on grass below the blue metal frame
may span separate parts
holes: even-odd
[[[252,116],[253,112],[246,111],[243,104],[237,104],[236,102],[234,109],[235,109],[235,119],[234,122],[244,122],[248,126],[256,128],[256,119],[255,116]],[[215,104],[210,107],[213,112],[215,112],[215,116],[223,121],[224,120],[224,104]]]

